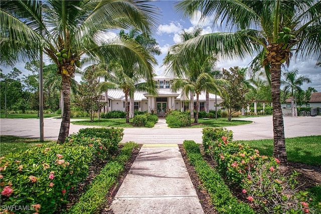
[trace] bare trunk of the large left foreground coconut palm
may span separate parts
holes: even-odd
[[[63,116],[57,143],[64,143],[69,135],[70,126],[70,76],[62,75]]]

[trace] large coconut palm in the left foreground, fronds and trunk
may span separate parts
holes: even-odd
[[[135,27],[150,32],[157,9],[147,0],[67,1],[4,0],[1,4],[1,64],[37,58],[39,50],[57,65],[62,77],[64,111],[58,142],[69,135],[70,82],[80,59],[86,55],[109,61],[126,60],[143,72],[152,70],[143,48],[132,42],[104,38],[111,29]]]

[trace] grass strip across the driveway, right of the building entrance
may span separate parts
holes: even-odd
[[[191,120],[194,123],[194,119]],[[216,119],[199,119],[199,125],[193,125],[189,128],[205,128],[205,127],[225,127],[225,126],[239,126],[245,124],[251,124],[251,121],[241,121],[241,120],[233,120],[231,122],[228,121],[227,118],[218,118]]]

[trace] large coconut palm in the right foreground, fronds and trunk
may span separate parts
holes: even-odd
[[[176,8],[185,17],[200,10],[202,18],[213,16],[214,23],[233,32],[219,32],[187,41],[177,58],[188,67],[195,53],[216,54],[218,58],[255,56],[253,65],[261,64],[271,75],[273,102],[273,156],[287,161],[282,109],[280,105],[281,65],[294,56],[321,59],[320,1],[181,1]],[[254,63],[256,62],[256,63]]]

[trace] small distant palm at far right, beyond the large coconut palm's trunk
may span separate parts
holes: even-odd
[[[299,91],[302,90],[300,87],[304,82],[310,83],[311,80],[303,75],[298,76],[299,71],[297,69],[293,69],[291,71],[284,72],[284,80],[281,81],[281,84],[284,85],[283,91],[285,93],[290,93],[291,95],[291,112],[292,117],[297,116],[296,109],[296,95]],[[295,100],[295,102],[294,102]]]

